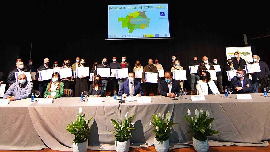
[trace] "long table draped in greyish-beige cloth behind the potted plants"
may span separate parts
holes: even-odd
[[[212,128],[219,131],[209,137],[210,146],[268,146],[270,139],[270,98],[263,94],[251,94],[252,100],[226,99],[224,95],[205,95],[205,101],[190,99],[172,100],[163,96],[152,96],[151,103],[125,102],[120,105],[121,116],[135,114],[130,138],[131,147],[147,147],[154,143],[152,114],[169,111],[173,122],[169,138],[170,148],[192,146],[192,136],[188,134],[188,123],[183,118],[187,109],[195,115],[195,109],[208,109],[214,117]],[[236,97],[235,94],[231,95]],[[190,98],[187,95],[187,98]],[[65,129],[68,123],[76,119],[79,107],[82,107],[86,119],[94,117],[89,135],[90,150],[115,150],[114,130],[110,119],[118,117],[118,100],[103,97],[99,105],[80,102],[80,98],[54,99],[51,104],[31,103],[30,99],[13,101],[0,107],[0,149],[2,150],[53,150],[71,151],[73,135]],[[45,146],[46,145],[46,146]]]

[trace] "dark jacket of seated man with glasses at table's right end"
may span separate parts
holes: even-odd
[[[252,91],[252,86],[251,86],[251,83],[249,82],[249,78],[244,77],[244,79],[245,80],[242,86],[241,80],[237,76],[234,76],[232,78],[231,84],[232,84],[233,93],[249,93],[250,91]],[[247,87],[247,84],[249,84],[249,87]],[[243,89],[240,91],[236,91],[235,90],[236,87],[242,87]]]

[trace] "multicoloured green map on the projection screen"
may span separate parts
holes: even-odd
[[[145,29],[150,24],[150,18],[145,15],[145,11],[129,13],[125,18],[118,18],[119,21],[122,22],[122,28],[129,29],[128,33],[132,33],[135,29]]]

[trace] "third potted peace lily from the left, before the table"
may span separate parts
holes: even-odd
[[[167,112],[166,118],[164,118],[164,114],[162,114],[161,119],[160,113],[157,115],[153,114],[154,122],[149,123],[149,126],[152,124],[155,128],[153,132],[155,134],[154,144],[157,152],[166,152],[169,150],[169,137],[172,130],[172,125],[177,124],[170,121],[170,112]]]

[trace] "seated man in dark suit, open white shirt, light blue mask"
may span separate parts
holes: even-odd
[[[164,74],[165,80],[160,82],[160,95],[174,98],[180,96],[180,84],[178,80],[172,79],[172,72],[166,71]],[[173,86],[172,86],[173,85]]]

